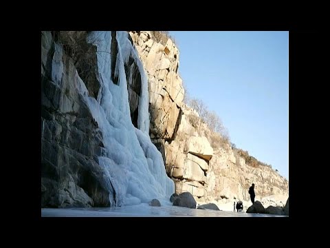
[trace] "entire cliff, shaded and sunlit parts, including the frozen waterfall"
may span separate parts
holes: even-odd
[[[41,207],[248,200],[252,183],[256,198],[287,196],[183,103],[178,68],[175,43],[151,32],[41,33]]]

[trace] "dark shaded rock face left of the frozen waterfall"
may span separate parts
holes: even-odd
[[[84,35],[58,34],[67,43]],[[87,43],[85,47],[77,49],[91,56],[95,48]],[[73,83],[77,67],[84,76],[85,64],[75,63],[68,53],[50,32],[41,33],[41,207],[108,207],[113,192],[104,187],[97,160],[102,153],[102,133]],[[91,63],[92,67],[97,64]],[[97,97],[94,72],[86,86]]]

